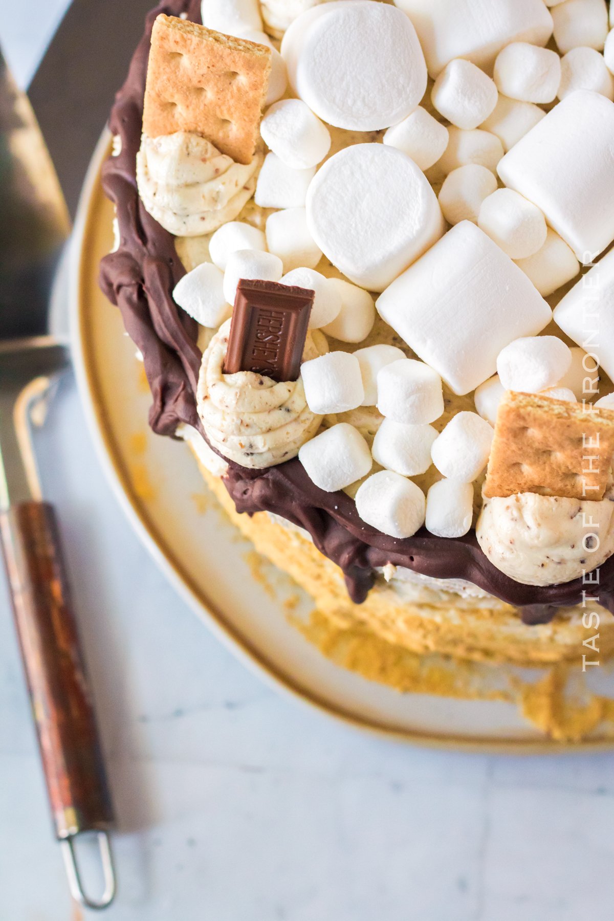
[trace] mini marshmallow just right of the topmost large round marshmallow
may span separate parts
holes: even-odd
[[[499,93],[494,82],[470,61],[456,58],[434,81],[431,100],[448,122],[470,131],[491,114]]]

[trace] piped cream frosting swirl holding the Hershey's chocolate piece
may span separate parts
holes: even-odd
[[[229,461],[261,470],[289,461],[322,421],[307,406],[302,379],[278,382],[253,371],[225,374],[227,320],[203,355],[197,407],[212,448]],[[328,352],[326,337],[307,333],[303,361]]]

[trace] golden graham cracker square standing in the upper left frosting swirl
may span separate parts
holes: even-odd
[[[151,33],[143,131],[202,134],[237,163],[259,138],[271,49],[161,13]]]

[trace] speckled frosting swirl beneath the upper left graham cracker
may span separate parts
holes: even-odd
[[[262,155],[243,166],[200,134],[141,139],[136,181],[148,213],[176,237],[199,237],[237,217],[256,189]]]

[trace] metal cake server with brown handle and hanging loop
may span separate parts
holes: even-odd
[[[52,277],[70,221],[26,96],[0,56],[0,542],[41,760],[70,891],[88,908],[115,894],[113,811],[52,506],[30,429],[69,367],[45,334]],[[98,835],[104,891],[84,892],[75,838]]]

